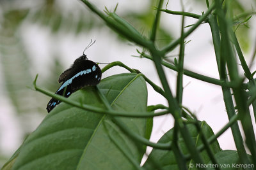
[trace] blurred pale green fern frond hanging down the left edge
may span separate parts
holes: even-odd
[[[26,104],[31,102],[33,96],[31,96],[31,91],[25,90],[24,87],[26,82],[32,81],[32,79],[29,73],[28,55],[24,51],[24,46],[19,38],[20,35],[17,34],[19,25],[27,14],[28,10],[6,11],[0,32],[3,82],[5,83],[6,93],[17,113],[26,112],[30,106],[35,106],[33,103]]]

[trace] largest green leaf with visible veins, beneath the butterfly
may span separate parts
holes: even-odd
[[[109,76],[98,87],[113,110],[147,111],[147,86],[140,74]],[[95,87],[68,99],[104,108]],[[148,137],[152,122],[148,125],[146,118],[120,119],[134,133]],[[134,169],[131,162],[139,166],[143,153],[145,147],[129,139],[108,115],[60,103],[24,141],[13,169]]]

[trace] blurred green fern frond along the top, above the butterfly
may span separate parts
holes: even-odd
[[[42,2],[44,4],[37,6],[36,10],[30,10],[29,19],[35,24],[40,24],[51,29],[52,34],[60,31],[79,34],[102,25],[100,22],[95,22],[97,20],[90,13],[86,13],[85,15],[82,8],[63,11],[60,1],[45,0]]]

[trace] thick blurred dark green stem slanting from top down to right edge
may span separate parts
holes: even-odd
[[[227,62],[230,80],[239,82],[240,78],[237,70],[236,59],[232,51],[232,46],[230,45],[230,38],[228,36],[230,33],[232,34],[232,30],[229,24],[230,22],[228,22],[225,17],[225,13],[222,9],[220,1],[216,1],[216,13],[218,14],[218,23],[220,25],[221,32],[221,58]],[[239,116],[241,117],[241,124],[243,126],[244,134],[246,136],[246,145],[252,153],[253,164],[254,166],[256,166],[255,134],[253,131],[250,111],[249,108],[246,106],[246,96],[244,96],[243,90],[241,90],[241,88],[239,87],[233,88],[233,92],[237,104],[237,110],[239,112]]]

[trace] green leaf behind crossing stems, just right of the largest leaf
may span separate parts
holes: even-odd
[[[206,138],[209,138],[210,136],[214,135],[211,127],[209,127],[209,125],[207,125],[206,122],[200,122],[200,125],[201,125],[201,130],[204,133]],[[196,141],[196,146],[201,145],[202,141],[198,132],[196,131],[195,125],[188,124],[187,126],[189,129],[190,135]],[[173,129],[170,129],[170,131],[166,132],[162,136],[162,138],[159,139],[158,143],[169,143],[172,140],[173,140]],[[177,143],[180,146],[180,150],[182,151],[182,153],[184,154],[189,153],[188,150],[186,149],[184,139],[180,136],[180,134],[179,134]],[[218,141],[215,141],[214,143],[211,144],[211,149],[213,153],[217,153],[221,151]],[[204,159],[204,162],[209,161],[209,157],[205,151],[201,153],[201,156]],[[189,164],[189,161],[187,163]],[[159,150],[159,149],[152,150],[150,155],[148,155],[148,160],[145,162],[143,167],[145,167],[145,169],[154,169],[154,166],[161,166],[163,169],[179,169],[177,162],[175,160],[174,153],[168,150]]]

